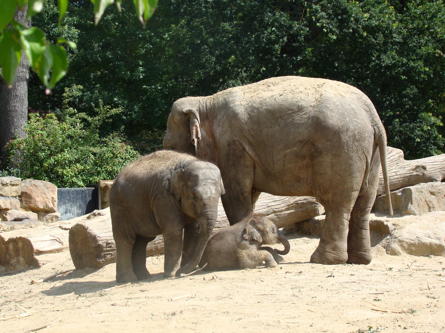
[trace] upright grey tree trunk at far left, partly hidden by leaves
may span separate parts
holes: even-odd
[[[26,6],[22,11],[16,12],[14,20],[26,27],[30,22],[26,22]],[[0,147],[1,147],[1,166],[5,166],[5,145],[12,139],[15,133],[22,138],[25,133],[23,127],[28,119],[28,79],[29,79],[29,61],[25,53],[22,53],[20,66],[17,69],[17,76],[8,88],[8,84],[0,75]]]

